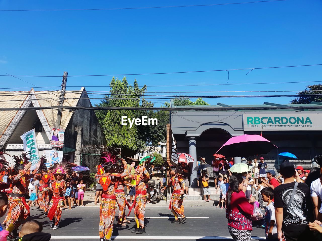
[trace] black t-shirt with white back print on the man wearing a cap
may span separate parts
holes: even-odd
[[[302,231],[308,227],[308,207],[310,202],[310,189],[305,183],[298,183],[294,199],[285,210],[292,196],[295,182],[280,184],[274,189],[274,207],[283,208],[282,231]]]

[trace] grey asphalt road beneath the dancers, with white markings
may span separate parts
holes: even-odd
[[[232,240],[227,226],[225,211],[215,207],[185,207],[187,221],[184,224],[171,224],[173,214],[167,206],[147,207],[145,213],[146,233],[137,235],[131,233],[135,222],[133,219],[126,227],[120,227],[115,221],[112,238],[116,240]],[[128,210],[127,210],[128,211]],[[118,210],[116,212],[118,216]],[[131,215],[133,217],[133,212]],[[170,218],[169,218],[170,217]],[[1,222],[4,218],[1,218]],[[28,219],[37,219],[43,224],[43,232],[52,234],[52,241],[68,240],[99,240],[99,207],[76,207],[73,210],[63,210],[60,228],[52,230],[50,221],[42,212],[31,209]],[[264,229],[253,228],[254,240],[264,240]]]

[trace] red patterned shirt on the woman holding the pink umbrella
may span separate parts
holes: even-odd
[[[254,205],[248,202],[243,191],[233,192],[230,210],[226,209],[228,226],[239,230],[253,230],[251,224],[253,210]]]

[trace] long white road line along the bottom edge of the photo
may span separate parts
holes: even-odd
[[[97,239],[99,236],[52,236],[52,239]],[[112,236],[113,239],[212,239],[212,240],[232,240],[232,237],[220,237],[220,236]],[[257,237],[252,236],[251,239],[253,240],[265,240],[266,237]]]

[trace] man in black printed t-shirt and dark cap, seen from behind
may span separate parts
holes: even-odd
[[[286,241],[315,240],[308,228],[308,208],[310,202],[310,189],[307,184],[301,183],[298,172],[290,162],[280,165],[280,174],[284,184],[274,189],[274,207],[277,224],[278,239],[283,234]],[[297,180],[297,188],[293,200],[289,203]]]

